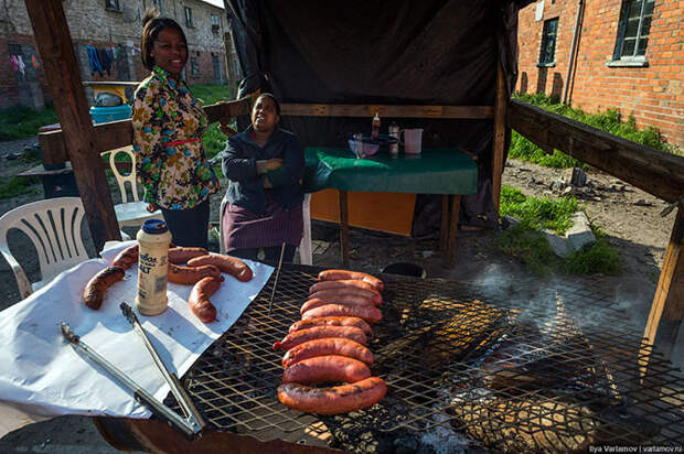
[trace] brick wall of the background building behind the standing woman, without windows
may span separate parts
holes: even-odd
[[[140,61],[140,36],[142,33],[141,18],[151,0],[119,0],[120,11],[105,8],[105,0],[64,0],[64,12],[68,23],[76,57],[81,66],[82,80],[141,80],[149,72]],[[192,10],[193,26],[185,24],[185,11]],[[212,30],[211,14],[220,20],[218,30]],[[162,15],[175,19],[188,39],[189,51],[199,62],[200,74],[191,76],[188,66],[186,75],[191,84],[216,84],[226,82],[226,60],[223,34],[227,31],[227,20],[223,9],[200,0],[162,0]],[[31,45],[35,48],[33,29],[22,0],[6,0],[0,3],[0,108],[15,104],[26,104],[28,89],[18,80],[9,52],[12,45]],[[92,74],[86,45],[95,47],[116,47],[118,57],[110,74],[101,76]],[[199,53],[199,55],[197,55]],[[38,53],[36,53],[38,54]],[[212,57],[220,58],[221,74],[216,78]],[[40,63],[40,62],[39,62]],[[50,100],[50,91],[42,68],[36,74],[36,85],[42,88],[45,100]],[[86,89],[92,101],[92,93]],[[33,106],[32,106],[33,107]]]

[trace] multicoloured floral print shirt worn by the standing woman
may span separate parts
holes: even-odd
[[[183,79],[154,66],[136,90],[133,151],[145,202],[165,209],[192,208],[218,191],[202,134],[207,120]]]

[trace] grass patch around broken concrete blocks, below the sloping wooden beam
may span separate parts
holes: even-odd
[[[575,197],[553,199],[527,197],[521,191],[501,188],[501,216],[514,216],[521,223],[496,238],[494,247],[521,260],[528,272],[545,277],[553,272],[565,274],[618,274],[620,256],[605,240],[602,231],[592,227],[597,241],[568,258],[557,257],[542,229],[564,234],[570,227],[570,216],[578,210]]]

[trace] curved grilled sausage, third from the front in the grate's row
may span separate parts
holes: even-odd
[[[325,337],[322,339],[307,340],[287,350],[282,357],[282,367],[287,369],[293,364],[300,363],[304,359],[327,355],[354,358],[367,366],[373,364],[373,354],[371,350],[357,342],[342,337]]]

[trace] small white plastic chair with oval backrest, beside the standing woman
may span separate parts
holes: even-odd
[[[138,184],[136,182],[136,154],[132,151],[132,147],[126,147],[118,150],[109,150],[101,153],[109,153],[109,167],[116,177],[117,184],[119,185],[119,191],[121,193],[121,203],[114,206],[114,212],[116,213],[116,219],[119,223],[120,227],[139,227],[147,219],[163,219],[163,215],[161,210],[156,210],[154,213],[150,213],[147,210],[147,203],[141,202],[138,195]],[[128,175],[121,174],[116,166],[116,156],[119,153],[125,153],[130,158],[131,170]],[[126,191],[126,183],[129,184],[132,201],[129,202],[128,192]],[[121,237],[124,239],[130,239],[128,235],[121,231]]]

